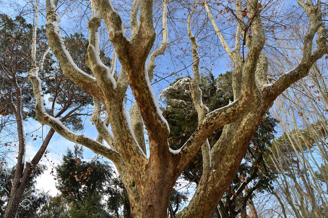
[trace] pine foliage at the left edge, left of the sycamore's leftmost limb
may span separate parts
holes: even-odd
[[[22,99],[22,107],[24,117],[34,115],[34,100],[32,98],[31,83],[27,79],[27,73],[31,69],[31,44],[33,25],[28,24],[26,20],[18,16],[14,20],[6,14],[0,14],[0,80],[2,92],[0,107],[1,113],[5,112],[12,114],[12,109],[9,104]],[[46,30],[38,28],[36,31],[36,58],[40,59],[41,55],[47,49]],[[44,72],[51,70],[52,60],[45,60],[44,71],[41,78],[43,79]],[[22,89],[22,95],[18,93],[15,83],[17,81],[18,89]]]

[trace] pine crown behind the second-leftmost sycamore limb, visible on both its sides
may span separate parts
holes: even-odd
[[[81,33],[74,33],[69,37],[65,37],[64,42],[74,60],[74,63],[84,72],[92,75],[91,70],[85,64],[89,40]],[[100,51],[100,58],[105,65],[110,67],[111,59],[106,57],[103,51]],[[53,116],[63,118],[65,117],[64,115],[66,115],[63,111],[66,111],[69,108],[76,108],[76,114],[84,115],[84,107],[90,104],[93,105],[92,96],[67,78],[63,74],[59,65],[49,71],[45,83],[45,93],[48,94],[49,101],[54,101],[56,105],[60,106],[59,109],[54,107],[48,110],[48,113],[53,113]],[[83,129],[83,122],[79,116],[67,117],[63,123],[72,131]]]

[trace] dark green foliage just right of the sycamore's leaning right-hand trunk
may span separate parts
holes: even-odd
[[[277,174],[267,168],[266,160],[272,154],[269,148],[272,147],[277,122],[278,120],[270,117],[269,113],[260,122],[236,177],[220,201],[221,213],[237,216],[246,208],[248,200],[252,199],[256,192],[263,193],[273,188],[273,181]],[[239,209],[235,210],[236,208]]]

